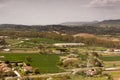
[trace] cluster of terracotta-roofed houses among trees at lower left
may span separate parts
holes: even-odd
[[[3,56],[0,56],[3,57]],[[9,61],[0,61],[0,72],[2,75],[7,76],[21,76],[21,72],[25,74],[33,73],[33,68],[30,64],[25,64],[24,62],[9,62]]]

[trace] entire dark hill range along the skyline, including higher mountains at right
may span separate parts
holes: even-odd
[[[90,33],[120,35],[120,19],[101,22],[65,22],[59,25],[15,25],[1,24],[0,31],[57,31],[66,34]]]

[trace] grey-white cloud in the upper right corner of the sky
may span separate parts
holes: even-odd
[[[111,8],[111,7],[119,7],[120,0],[92,0],[89,4],[89,7],[96,8]]]

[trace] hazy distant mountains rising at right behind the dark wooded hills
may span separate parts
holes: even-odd
[[[64,22],[64,23],[61,23],[61,25],[66,25],[66,26],[120,27],[120,19],[93,21],[93,22]]]

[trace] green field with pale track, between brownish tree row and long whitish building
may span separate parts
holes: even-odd
[[[33,48],[40,44],[53,44],[60,43],[62,41],[55,41],[47,38],[19,38],[19,39],[6,39],[7,44],[11,47],[17,48]]]

